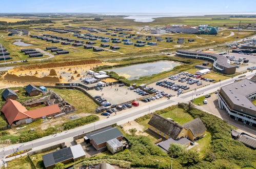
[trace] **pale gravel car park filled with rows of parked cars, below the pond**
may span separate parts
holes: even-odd
[[[179,76],[178,76],[179,77]],[[212,82],[210,82],[210,81],[205,81],[205,80],[202,80],[201,78],[196,78],[196,77],[190,77],[191,79],[194,79],[194,80],[199,80],[199,81],[201,81],[202,82],[202,85],[197,85],[197,83],[195,82],[195,83],[193,83],[192,85],[189,85],[189,84],[187,84],[187,82],[189,81],[189,80],[187,80],[187,81],[184,81],[184,82],[181,82],[181,81],[179,81],[179,79],[181,79],[182,77],[186,77],[186,78],[189,78],[189,76],[186,76],[186,75],[180,75],[180,77],[179,78],[175,78],[175,80],[174,79],[169,79],[169,77],[167,77],[167,78],[164,78],[164,79],[162,79],[162,80],[160,80],[160,81],[157,81],[158,83],[159,82],[162,82],[162,81],[167,81],[167,82],[172,82],[172,83],[175,83],[174,85],[172,85],[171,86],[171,88],[175,88],[175,85],[181,85],[181,86],[187,86],[187,87],[189,87],[189,89],[182,89],[182,87],[181,88],[179,88],[178,90],[176,90],[176,91],[174,91],[174,90],[172,90],[172,89],[169,89],[169,88],[167,88],[168,87],[168,85],[167,85],[167,87],[163,87],[163,86],[159,86],[159,85],[156,85],[156,83],[157,82],[154,82],[154,83],[152,83],[152,84],[150,84],[150,85],[148,85],[149,87],[152,87],[152,88],[154,88],[154,89],[156,89],[156,90],[160,90],[160,91],[164,91],[165,93],[168,93],[168,94],[171,94],[171,95],[177,95],[178,94],[178,91],[180,90],[180,91],[182,91],[182,93],[184,93],[184,92],[188,92],[188,91],[191,91],[191,90],[195,90],[195,89],[198,89],[198,88],[201,88],[201,87],[204,87],[204,86],[207,86],[207,85],[210,85]],[[203,77],[203,76],[202,76]],[[185,80],[186,80],[186,78],[184,78]],[[177,88],[177,87],[176,87]]]

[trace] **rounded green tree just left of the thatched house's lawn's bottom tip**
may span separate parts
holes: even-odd
[[[199,154],[191,150],[185,151],[185,153],[179,158],[181,164],[184,166],[194,165],[200,161]]]

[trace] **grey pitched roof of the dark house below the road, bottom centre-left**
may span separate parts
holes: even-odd
[[[111,126],[86,135],[90,140],[94,140],[95,144],[101,144],[120,136],[123,136],[120,130]]]

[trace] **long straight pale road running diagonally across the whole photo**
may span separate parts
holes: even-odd
[[[254,72],[253,73],[248,72],[244,75],[246,75],[246,77],[243,77],[243,78],[250,78],[254,75]],[[156,102],[149,103],[144,107],[138,107],[137,109],[131,110],[129,113],[110,116],[109,118],[106,118],[101,121],[97,121],[95,123],[90,123],[84,126],[80,126],[78,128],[75,128],[69,131],[64,131],[62,133],[57,133],[56,135],[46,136],[37,140],[26,142],[24,144],[19,143],[19,144],[13,144],[13,145],[4,147],[4,149],[0,149],[0,159],[3,159],[6,155],[12,154],[13,150],[15,151],[17,147],[19,147],[19,151],[30,149],[30,148],[33,148],[33,150],[38,150],[38,149],[42,149],[44,147],[48,147],[50,145],[61,143],[61,142],[72,142],[73,137],[78,134],[103,128],[104,126],[114,124],[114,123],[117,123],[118,125],[120,125],[122,123],[134,120],[137,117],[143,116],[148,113],[152,113],[156,110],[167,108],[170,105],[177,104],[178,102],[187,102],[191,100],[192,97],[196,98],[196,97],[200,97],[202,94],[214,92],[218,90],[220,86],[225,86],[229,83],[232,83],[235,79],[239,79],[238,76],[232,79],[230,78],[221,82],[213,83],[212,85],[200,88],[196,91],[191,91],[191,92],[181,94],[179,97],[173,97],[170,100],[162,99]],[[196,96],[196,94],[198,94],[198,96]],[[10,160],[10,159],[11,158],[5,159],[5,160]]]

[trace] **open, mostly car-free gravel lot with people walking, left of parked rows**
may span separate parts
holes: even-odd
[[[103,89],[99,91],[95,89],[88,90],[87,92],[93,97],[102,96],[102,98],[105,98],[111,104],[120,104],[142,97],[133,92],[133,90],[128,90],[126,86],[119,87],[118,85],[103,87]]]

